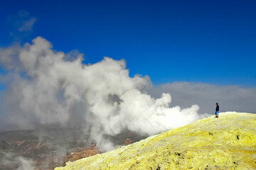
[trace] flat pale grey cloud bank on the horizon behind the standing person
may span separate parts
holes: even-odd
[[[200,113],[215,113],[215,103],[220,104],[220,112],[237,111],[256,113],[256,88],[241,86],[216,86],[213,84],[174,82],[154,86],[150,94],[154,97],[170,93],[174,98],[173,105],[200,106]]]

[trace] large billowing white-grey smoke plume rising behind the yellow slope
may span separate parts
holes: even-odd
[[[113,146],[105,135],[123,130],[154,135],[203,116],[197,105],[169,107],[170,94],[149,96],[149,77],[129,77],[124,60],[105,57],[96,64],[82,64],[77,52],[67,55],[51,48],[50,42],[38,37],[32,44],[0,51],[7,72],[1,78],[8,86],[1,102],[6,125],[82,124],[107,150]]]

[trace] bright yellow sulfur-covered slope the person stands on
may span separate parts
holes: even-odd
[[[220,113],[61,169],[256,169],[256,114]]]

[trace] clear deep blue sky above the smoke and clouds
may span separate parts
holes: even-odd
[[[84,53],[86,63],[124,59],[131,76],[154,84],[256,86],[255,8],[256,1],[1,1],[0,47],[40,35],[55,50]],[[33,29],[17,31],[18,11],[36,18]]]

